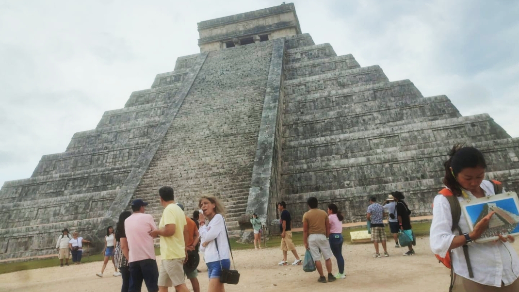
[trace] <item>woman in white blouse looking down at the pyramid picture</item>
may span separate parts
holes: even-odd
[[[458,202],[494,196],[499,191],[494,184],[499,182],[484,179],[486,167],[480,150],[456,145],[444,163],[443,183]],[[434,197],[429,244],[431,251],[440,257],[450,254],[454,273],[452,291],[519,291],[519,257],[512,246],[515,238],[496,234],[499,239],[495,242],[473,242],[488,230],[490,220],[496,220],[495,212],[489,212],[470,231],[463,212],[460,212],[458,222],[453,222],[450,206],[444,194]],[[457,228],[453,230],[456,223],[460,233]],[[467,249],[468,258],[463,249]]]

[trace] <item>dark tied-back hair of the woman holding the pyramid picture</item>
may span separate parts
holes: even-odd
[[[443,183],[456,196],[461,195],[461,187],[456,180],[458,174],[466,168],[483,168],[486,169],[486,162],[480,150],[474,147],[462,147],[462,145],[454,145],[449,151],[449,159],[443,163],[445,167],[445,176]],[[450,170],[452,168],[452,171]]]

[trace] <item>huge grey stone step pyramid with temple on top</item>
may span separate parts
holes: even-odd
[[[227,207],[230,234],[257,212],[268,226],[284,200],[301,226],[306,199],[365,217],[369,196],[401,190],[415,215],[431,214],[442,163],[455,143],[481,149],[488,178],[519,190],[519,138],[487,114],[462,117],[444,96],[302,34],[295,7],[198,23],[200,53],[180,57],[151,88],[43,156],[31,178],[0,190],[0,260],[54,253],[62,228],[102,245],[132,199],[172,186],[186,214],[202,194]],[[276,231],[270,228],[270,231]]]

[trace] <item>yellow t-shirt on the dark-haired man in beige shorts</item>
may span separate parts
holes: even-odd
[[[160,237],[160,257],[162,259],[184,258],[186,256],[186,245],[184,243],[186,215],[177,204],[169,204],[164,208],[159,229],[168,224],[175,225],[175,234],[169,237]]]

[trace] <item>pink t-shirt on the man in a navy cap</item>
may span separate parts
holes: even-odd
[[[152,215],[133,213],[125,220],[126,239],[130,249],[128,262],[155,259],[153,238],[148,232],[157,229]]]

